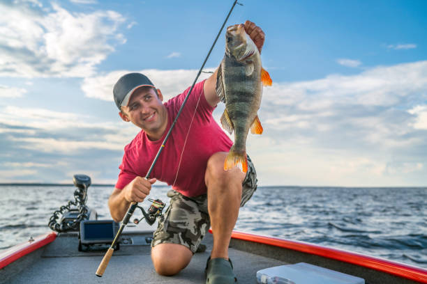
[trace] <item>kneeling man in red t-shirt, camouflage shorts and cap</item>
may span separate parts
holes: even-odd
[[[261,52],[264,32],[253,22],[246,33]],[[202,237],[213,232],[213,248],[207,263],[207,283],[234,283],[228,246],[239,207],[255,191],[256,173],[248,159],[248,173],[223,164],[232,141],[213,120],[220,102],[216,95],[216,72],[195,85],[151,172],[158,152],[189,88],[163,104],[161,91],[143,74],[126,74],[114,85],[119,116],[142,131],[125,148],[121,172],[108,205],[112,218],[121,221],[132,201],[142,202],[156,180],[172,185],[170,207],[159,219],[151,244],[151,259],[160,275],[171,276],[184,269],[197,251]]]

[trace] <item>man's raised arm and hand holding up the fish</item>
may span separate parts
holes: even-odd
[[[252,38],[255,45],[258,47],[258,50],[262,50],[262,45],[264,45],[265,34],[264,31],[259,26],[256,26],[253,22],[246,21],[245,22],[245,31],[248,33],[250,38]],[[211,107],[216,107],[218,102],[220,101],[218,95],[216,95],[216,75],[218,73],[218,68],[216,71],[211,74],[205,82],[203,86],[204,97],[206,97],[207,102],[211,105]]]

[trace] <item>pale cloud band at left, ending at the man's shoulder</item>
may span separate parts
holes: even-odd
[[[40,152],[123,150],[137,132],[136,127],[119,119],[105,123],[75,113],[12,106],[0,111],[0,133],[8,134],[15,147]]]

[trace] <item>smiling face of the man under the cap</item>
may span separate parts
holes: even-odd
[[[162,103],[163,95],[154,88],[142,87],[135,90],[127,107],[119,113],[125,121],[130,121],[147,133],[150,139],[158,140],[167,127],[167,111]]]

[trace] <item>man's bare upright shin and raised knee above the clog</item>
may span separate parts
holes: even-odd
[[[211,258],[228,259],[228,246],[239,215],[241,184],[246,173],[237,167],[224,171],[225,157],[227,152],[217,152],[209,158],[204,180],[213,232]]]

